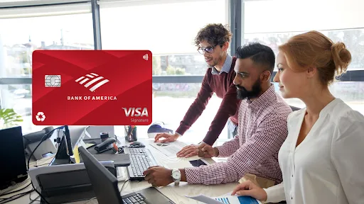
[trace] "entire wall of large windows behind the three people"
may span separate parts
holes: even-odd
[[[236,6],[240,2],[244,26],[235,19],[240,16],[240,6]],[[353,56],[350,73],[330,89],[364,114],[364,79],[359,73],[364,70],[364,1],[99,0],[97,4],[100,10],[91,6],[91,1],[81,0],[0,2],[0,106],[14,108],[23,117],[24,132],[43,128],[31,122],[33,50],[92,50],[100,46],[102,50],[151,50],[153,120],[162,120],[176,130],[195,100],[207,69],[193,40],[208,23],[230,23],[235,47],[240,46],[235,44],[243,36],[242,44],[259,41],[276,54],[277,47],[289,37],[308,30],[319,30],[335,41],[345,42]],[[240,28],[242,36],[236,32]],[[203,139],[220,102],[215,95],[210,99],[186,132],[193,137],[183,140]],[[287,102],[304,107],[298,99]],[[139,130],[146,132],[146,128]],[[218,144],[226,139],[226,131],[221,133]]]

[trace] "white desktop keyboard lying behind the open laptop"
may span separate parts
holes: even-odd
[[[143,180],[143,172],[149,166],[157,166],[156,160],[146,148],[124,148],[124,154],[129,154],[130,165],[127,167],[130,180]]]

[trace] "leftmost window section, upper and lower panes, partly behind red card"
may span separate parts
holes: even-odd
[[[48,7],[50,9],[51,7]],[[93,50],[92,14],[0,19],[0,78],[31,78],[34,50]],[[1,108],[14,108],[23,132],[31,120],[31,84],[0,86]]]

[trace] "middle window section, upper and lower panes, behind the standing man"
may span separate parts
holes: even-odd
[[[204,75],[208,67],[193,40],[208,23],[228,23],[227,1],[141,2],[100,1],[102,49],[151,50],[154,76]],[[153,84],[153,121],[164,121],[176,130],[200,90],[200,81],[173,82]],[[203,114],[185,134],[191,136],[183,140],[203,140],[220,102],[217,96],[210,99]],[[223,130],[220,137],[227,137],[226,132]]]

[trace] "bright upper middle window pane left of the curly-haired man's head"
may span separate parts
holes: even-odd
[[[225,0],[158,2],[100,1],[102,49],[198,54],[193,45],[198,30],[208,23],[228,23]]]

